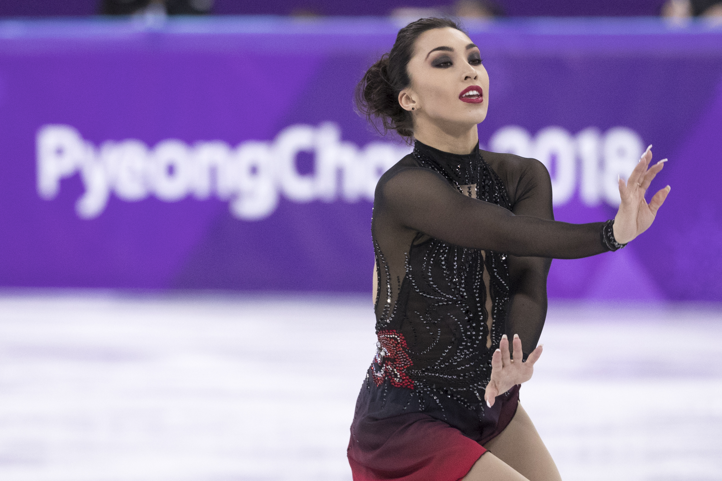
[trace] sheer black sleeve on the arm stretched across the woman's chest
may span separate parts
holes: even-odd
[[[402,227],[440,241],[554,259],[578,259],[607,250],[601,243],[602,222],[569,224],[514,215],[461,194],[441,175],[425,168],[400,168],[387,174],[378,186],[378,207]]]

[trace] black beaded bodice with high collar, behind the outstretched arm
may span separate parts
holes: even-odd
[[[416,142],[409,162],[438,173],[461,194],[510,209],[503,182],[478,148],[453,155]],[[385,246],[388,239],[377,227],[373,223],[379,339],[374,381],[380,385],[388,378],[427,402],[451,397],[467,407],[481,403],[491,354],[505,333],[508,256],[418,231],[400,256],[386,252],[398,246]]]

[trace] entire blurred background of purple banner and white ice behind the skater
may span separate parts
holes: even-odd
[[[6,0],[0,480],[351,480],[373,190],[410,150],[352,92],[432,15],[557,220],[669,157],[647,233],[552,263],[521,402],[562,477],[722,479],[722,2]]]

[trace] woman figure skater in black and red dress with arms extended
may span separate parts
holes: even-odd
[[[416,142],[375,191],[378,352],[351,426],[354,480],[559,480],[518,404],[541,355],[549,258],[623,247],[669,194],[644,200],[664,165],[648,169],[647,149],[614,220],[554,222],[541,162],[479,150],[488,92],[477,45],[434,18],[402,28],[357,87],[370,120]]]

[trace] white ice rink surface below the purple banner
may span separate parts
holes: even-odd
[[[0,480],[351,480],[367,297],[1,294]],[[565,481],[722,479],[722,308],[552,302],[541,342]]]

